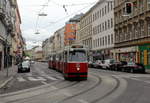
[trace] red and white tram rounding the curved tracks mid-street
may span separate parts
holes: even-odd
[[[83,45],[68,46],[61,53],[50,55],[49,68],[63,73],[68,79],[87,79],[87,49]]]

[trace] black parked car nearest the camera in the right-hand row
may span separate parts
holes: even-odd
[[[141,73],[145,73],[145,67],[143,64],[140,63],[134,63],[134,62],[128,62],[127,65],[123,66],[123,71],[126,72],[141,72]]]

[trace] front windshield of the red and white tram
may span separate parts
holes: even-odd
[[[69,52],[69,61],[78,61],[78,62],[86,62],[86,52],[85,51],[70,51]]]

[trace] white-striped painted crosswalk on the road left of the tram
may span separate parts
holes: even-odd
[[[16,78],[18,82],[26,82],[26,81],[47,81],[47,80],[52,80],[52,81],[56,81],[56,80],[63,80],[63,77],[60,77],[60,76],[48,76],[48,75],[45,75],[45,76],[26,76],[26,77],[23,77],[23,76],[20,76],[20,77],[17,77]]]

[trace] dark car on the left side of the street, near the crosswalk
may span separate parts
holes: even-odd
[[[30,61],[25,60],[18,64],[18,73],[20,72],[30,72]]]

